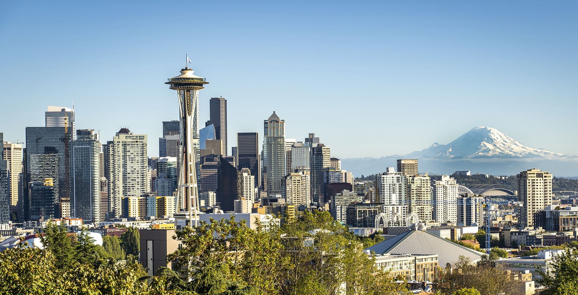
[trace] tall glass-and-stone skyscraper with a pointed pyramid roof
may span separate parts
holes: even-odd
[[[285,176],[285,120],[275,112],[264,121],[263,136],[263,177],[269,196],[281,194],[281,182]]]

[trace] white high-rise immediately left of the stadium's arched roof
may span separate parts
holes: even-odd
[[[460,194],[458,184],[449,175],[442,175],[433,185],[433,220],[436,222],[457,222],[457,201]]]

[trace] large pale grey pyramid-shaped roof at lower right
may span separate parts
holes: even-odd
[[[453,265],[460,260],[460,256],[475,263],[484,255],[423,230],[406,231],[365,250],[374,251],[376,254],[437,254],[440,267],[446,267],[447,263]]]

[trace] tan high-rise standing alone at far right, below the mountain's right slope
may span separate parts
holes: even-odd
[[[533,227],[534,213],[552,205],[552,174],[538,168],[522,171],[517,175],[518,200],[524,202],[520,208],[520,228]]]

